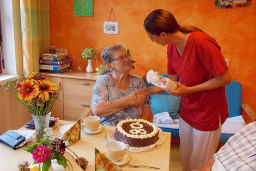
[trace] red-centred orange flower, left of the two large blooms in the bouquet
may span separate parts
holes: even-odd
[[[38,96],[38,86],[33,84],[33,81],[24,80],[20,82],[21,87],[17,88],[19,91],[17,94],[20,99],[29,101],[32,100],[33,97]]]

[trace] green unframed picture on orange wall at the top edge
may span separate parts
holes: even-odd
[[[75,16],[93,16],[93,0],[74,0]]]

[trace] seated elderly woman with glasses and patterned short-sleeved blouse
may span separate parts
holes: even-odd
[[[153,121],[149,97],[143,79],[130,75],[130,55],[122,45],[105,48],[101,59],[108,73],[96,80],[93,88],[92,112],[103,125],[117,125],[130,118]]]

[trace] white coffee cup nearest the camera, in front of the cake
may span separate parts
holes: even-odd
[[[129,147],[130,146],[128,144],[125,144],[120,141],[107,142],[105,145],[106,155],[109,159],[113,161],[121,160],[123,159],[126,150],[128,150]]]

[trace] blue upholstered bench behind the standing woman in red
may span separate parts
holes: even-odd
[[[162,77],[167,77],[167,74],[163,74]],[[147,83],[147,86],[151,84]],[[237,81],[231,81],[231,83],[225,86],[225,91],[228,100],[229,118],[222,125],[222,133],[220,142],[227,142],[228,138],[239,131],[243,126],[245,126],[245,121],[241,116],[241,98],[242,98],[242,86]],[[180,98],[174,97],[167,92],[161,94],[150,95],[150,107],[153,114],[161,112],[169,112],[173,119],[178,117],[180,108]],[[179,122],[179,120],[175,120]],[[172,137],[179,137],[179,127],[178,125],[170,125],[170,128],[161,128],[163,131],[171,132]]]

